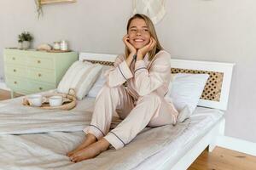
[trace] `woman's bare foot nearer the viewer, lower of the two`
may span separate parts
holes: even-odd
[[[84,161],[86,159],[93,158],[102,151],[107,150],[109,146],[108,140],[102,138],[94,144],[90,144],[82,150],[75,152],[72,156],[70,156],[71,161],[79,162]]]

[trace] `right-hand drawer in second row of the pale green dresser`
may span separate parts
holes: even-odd
[[[35,81],[55,83],[55,71],[28,68],[28,77]]]

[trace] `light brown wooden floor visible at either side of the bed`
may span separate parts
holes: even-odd
[[[0,100],[9,98],[0,89]],[[204,150],[188,170],[256,170],[256,157],[217,147],[211,153]]]

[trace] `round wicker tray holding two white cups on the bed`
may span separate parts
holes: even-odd
[[[63,98],[63,104],[59,106],[50,106],[49,97],[51,96],[61,96]],[[38,108],[48,109],[48,110],[57,109],[57,110],[68,111],[68,110],[72,110],[77,105],[77,99],[75,97],[75,92],[73,89],[70,89],[68,94],[51,94],[51,95],[44,96],[44,98],[46,98],[44,103]],[[34,107],[26,97],[23,98],[22,105]]]

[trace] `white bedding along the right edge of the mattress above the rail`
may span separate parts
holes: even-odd
[[[193,144],[197,144],[201,140],[201,137],[222,118],[224,118],[223,111],[197,107],[195,113],[187,120],[189,126],[183,131],[183,134],[178,136],[171,144],[166,145],[165,149],[160,150],[160,152],[153,156],[149,156],[133,169],[157,170],[160,169],[166,161],[169,161],[169,163],[174,166],[177,161],[183,157],[183,154],[189,151]],[[153,161],[154,164],[150,163]]]

